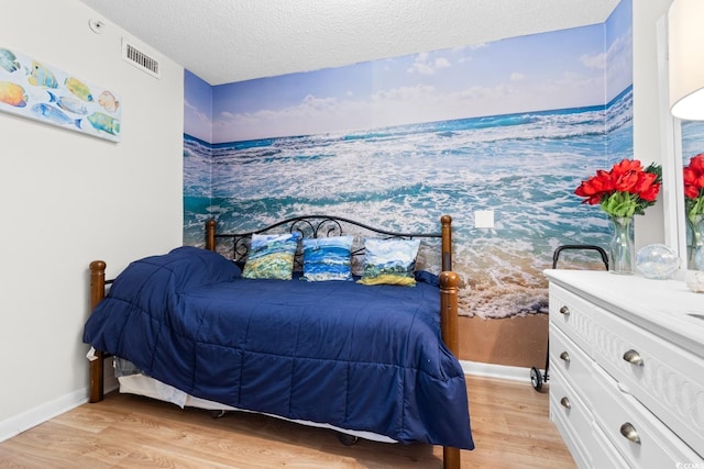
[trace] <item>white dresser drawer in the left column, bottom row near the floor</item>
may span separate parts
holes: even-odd
[[[591,440],[592,413],[559,370],[550,381],[550,418],[580,468],[593,468]]]

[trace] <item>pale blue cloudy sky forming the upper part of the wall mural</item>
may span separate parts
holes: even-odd
[[[628,2],[624,2],[628,3]],[[574,108],[630,83],[630,11],[604,44],[603,25],[284,75],[213,88],[212,141],[310,135],[414,122]],[[607,64],[608,63],[608,64]],[[188,97],[207,109],[209,97]],[[186,113],[189,120],[202,119]],[[197,135],[196,135],[197,136]]]

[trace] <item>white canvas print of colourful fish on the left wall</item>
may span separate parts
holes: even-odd
[[[3,44],[0,44],[0,111],[111,142],[121,138],[122,110],[113,89]]]

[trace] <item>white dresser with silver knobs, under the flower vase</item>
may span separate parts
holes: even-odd
[[[704,294],[592,270],[550,280],[550,416],[580,468],[704,469]]]

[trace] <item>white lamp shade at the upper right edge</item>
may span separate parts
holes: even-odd
[[[668,21],[670,111],[704,121],[704,0],[674,0]]]

